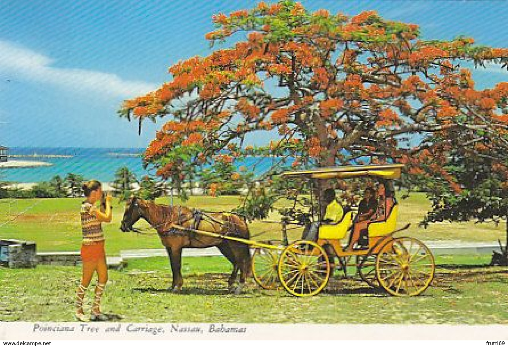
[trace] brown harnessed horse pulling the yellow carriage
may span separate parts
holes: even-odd
[[[203,213],[184,206],[156,204],[138,197],[131,197],[127,201],[120,230],[135,232],[133,226],[140,218],[145,219],[157,231],[161,243],[166,247],[173,272],[171,286],[173,292],[181,292],[183,286],[182,249],[216,246],[233,264],[233,272],[228,279],[229,291],[236,294],[241,293],[246,278],[251,274],[250,246],[239,241],[220,238],[220,235],[227,235],[250,239],[248,226],[241,217],[225,212]],[[182,227],[188,230],[182,229]],[[192,229],[215,233],[217,236],[198,234]],[[234,284],[239,270],[240,284],[235,289]]]

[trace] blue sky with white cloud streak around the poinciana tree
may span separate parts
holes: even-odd
[[[258,1],[2,0],[0,144],[144,147],[162,123],[116,115],[121,102],[155,89],[178,60],[210,53],[213,14]],[[270,3],[267,1],[267,3]],[[475,38],[506,47],[504,1],[301,1],[309,10],[419,24],[424,38]],[[496,66],[473,73],[477,86],[508,79]],[[265,141],[266,137],[257,140]]]

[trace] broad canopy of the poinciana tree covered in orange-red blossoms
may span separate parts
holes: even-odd
[[[417,175],[432,160],[427,167],[457,188],[439,165],[447,143],[432,139],[471,125],[489,124],[486,134],[497,134],[508,119],[508,84],[476,90],[464,68],[506,65],[507,49],[470,38],[423,40],[417,25],[372,11],[311,13],[291,1],[213,21],[212,45],[239,33],[247,39],[178,62],[169,82],[120,111],[140,128],[145,119],[167,118],[144,160],[176,186],[196,167],[273,154],[290,156],[293,168],[401,162]],[[280,136],[264,148],[246,145],[266,131]],[[421,142],[410,146],[415,136]]]

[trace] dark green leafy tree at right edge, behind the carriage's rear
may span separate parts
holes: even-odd
[[[432,202],[422,224],[470,220],[498,224],[504,219],[505,245],[499,241],[501,253],[494,254],[492,264],[508,265],[508,127],[477,122],[441,131],[433,140],[439,152],[424,151],[416,175]]]

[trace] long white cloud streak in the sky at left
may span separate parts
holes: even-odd
[[[0,70],[29,80],[120,98],[143,95],[157,87],[143,81],[124,80],[111,73],[55,68],[53,63],[46,55],[0,40]]]

